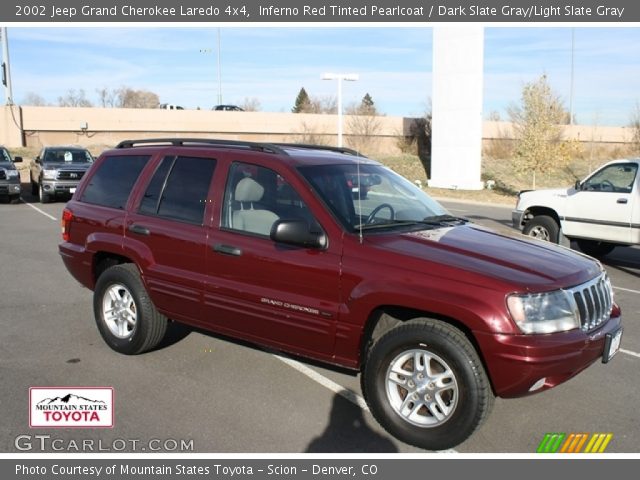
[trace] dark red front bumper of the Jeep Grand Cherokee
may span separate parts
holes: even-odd
[[[553,388],[601,360],[607,334],[622,325],[620,310],[591,331],[549,335],[477,333],[488,373],[499,397],[521,397]]]

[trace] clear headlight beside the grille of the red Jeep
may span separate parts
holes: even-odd
[[[528,295],[510,295],[509,313],[523,333],[566,332],[580,328],[578,307],[564,290]]]

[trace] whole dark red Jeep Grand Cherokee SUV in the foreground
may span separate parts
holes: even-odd
[[[366,175],[366,198],[349,181]],[[494,396],[554,387],[616,353],[594,259],[449,215],[348,149],[126,141],[62,217],[60,254],[106,343],[153,349],[169,319],[361,373],[404,442],[452,447]]]

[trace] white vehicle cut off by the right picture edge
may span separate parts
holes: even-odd
[[[640,244],[639,165],[640,159],[616,160],[571,188],[520,192],[513,226],[554,243],[575,240],[594,257]]]

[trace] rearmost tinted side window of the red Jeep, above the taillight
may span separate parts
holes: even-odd
[[[80,201],[124,209],[149,156],[107,157],[89,179]]]

